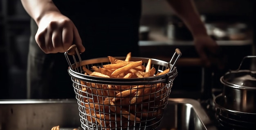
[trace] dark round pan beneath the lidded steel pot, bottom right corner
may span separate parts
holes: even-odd
[[[225,103],[222,94],[214,99],[215,117],[221,128],[225,130],[256,129],[256,113],[236,111],[231,104]]]

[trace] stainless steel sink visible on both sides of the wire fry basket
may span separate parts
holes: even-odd
[[[76,100],[0,100],[0,130],[72,130],[80,126]],[[158,130],[217,130],[197,100],[170,98]]]

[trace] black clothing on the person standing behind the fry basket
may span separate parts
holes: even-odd
[[[103,0],[102,0],[103,1]],[[54,0],[79,30],[85,52],[82,60],[107,56],[139,56],[140,0]],[[75,98],[63,53],[45,54],[35,41],[37,25],[31,20],[27,66],[27,98]]]

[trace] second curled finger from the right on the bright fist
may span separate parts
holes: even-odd
[[[62,30],[56,30],[52,33],[52,45],[56,52],[65,52],[62,43]]]

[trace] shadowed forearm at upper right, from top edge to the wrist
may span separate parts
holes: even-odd
[[[207,35],[204,23],[195,8],[193,0],[167,0],[174,13],[186,24],[194,37]]]

